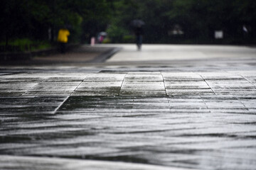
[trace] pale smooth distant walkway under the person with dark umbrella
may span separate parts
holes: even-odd
[[[107,62],[149,62],[172,60],[208,60],[227,57],[256,57],[256,48],[229,45],[107,45],[123,50]]]

